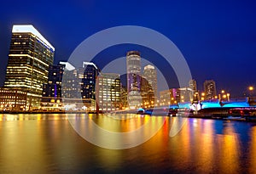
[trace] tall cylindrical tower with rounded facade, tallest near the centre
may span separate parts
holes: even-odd
[[[126,54],[127,68],[127,100],[130,109],[137,109],[142,105],[141,96],[141,55],[137,51]]]

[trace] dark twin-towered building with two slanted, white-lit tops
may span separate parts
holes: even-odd
[[[79,68],[67,62],[65,65],[62,95],[64,105],[76,105],[76,109],[96,110],[96,78],[100,72],[91,62],[83,62]],[[82,101],[82,103],[80,103]]]

